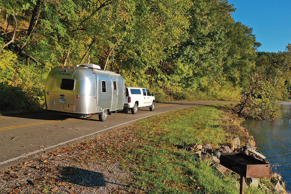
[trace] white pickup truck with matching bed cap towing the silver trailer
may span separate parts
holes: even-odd
[[[138,108],[149,108],[150,111],[155,109],[155,96],[154,93],[150,94],[149,90],[145,88],[126,87],[125,103],[122,112],[132,114],[137,113]]]

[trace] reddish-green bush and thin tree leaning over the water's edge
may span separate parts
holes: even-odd
[[[256,70],[243,89],[241,100],[234,111],[245,118],[275,119],[279,100],[289,90],[291,45],[285,52],[262,55],[256,61]]]

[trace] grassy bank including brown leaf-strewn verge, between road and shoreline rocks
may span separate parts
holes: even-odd
[[[127,178],[119,179],[124,184],[114,188],[113,193],[239,193],[238,175],[221,173],[211,156],[199,160],[192,151],[185,149],[192,143],[210,143],[217,149],[234,136],[239,136],[245,143],[248,134],[239,127],[236,119],[219,110],[221,107],[197,106],[156,115],[93,140],[55,150],[32,164],[36,169],[43,169],[39,173],[46,177],[42,181],[33,179],[34,187],[43,192],[55,188],[61,191],[69,182],[65,180],[68,178],[55,177],[64,169],[55,167],[54,162],[66,160],[70,166],[86,170],[100,163],[120,164],[124,171],[130,172],[132,179],[130,183]],[[14,168],[25,172],[24,167]],[[264,184],[270,186],[267,179]],[[264,187],[262,183],[260,185]],[[248,188],[245,193],[265,192],[260,188]]]

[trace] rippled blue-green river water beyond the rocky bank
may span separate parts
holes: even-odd
[[[258,142],[257,147],[280,174],[291,191],[291,103],[283,102],[275,121],[246,120],[247,128]]]

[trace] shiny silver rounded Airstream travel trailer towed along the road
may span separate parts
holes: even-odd
[[[124,79],[98,65],[55,67],[45,82],[47,110],[62,115],[88,117],[122,111],[125,99]]]

